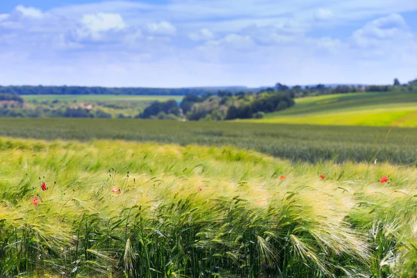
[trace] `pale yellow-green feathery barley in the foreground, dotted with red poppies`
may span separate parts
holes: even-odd
[[[3,277],[417,273],[414,169],[120,141],[3,138],[0,149]]]

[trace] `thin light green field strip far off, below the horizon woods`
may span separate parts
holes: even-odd
[[[24,101],[181,101],[183,96],[169,95],[22,95]]]

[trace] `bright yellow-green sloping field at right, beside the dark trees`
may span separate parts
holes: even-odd
[[[286,111],[252,122],[361,126],[417,126],[417,92],[306,97]]]

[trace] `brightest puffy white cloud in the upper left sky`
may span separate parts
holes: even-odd
[[[100,40],[105,32],[126,28],[123,17],[115,13],[83,15],[80,23],[81,27],[76,29],[76,35],[80,39],[91,37],[93,40]]]

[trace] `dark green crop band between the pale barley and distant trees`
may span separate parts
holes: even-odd
[[[0,119],[0,136],[234,145],[291,161],[415,165],[417,129],[120,119]]]

